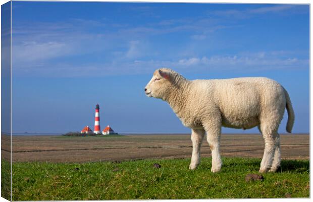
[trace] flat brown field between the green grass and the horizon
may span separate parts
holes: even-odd
[[[8,139],[2,138],[3,141]],[[8,142],[9,143],[9,142]],[[223,134],[222,157],[262,158],[262,135]],[[309,159],[309,135],[282,134],[283,159]],[[149,158],[190,158],[190,134],[129,135],[122,137],[13,136],[14,162],[94,162]],[[2,157],[10,154],[2,148]],[[203,141],[201,157],[211,157]]]

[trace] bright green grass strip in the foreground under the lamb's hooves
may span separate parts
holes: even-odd
[[[223,158],[219,173],[211,158],[194,171],[189,161],[14,163],[13,200],[309,197],[309,161],[284,160],[279,172],[250,182],[245,176],[258,172],[259,159]]]

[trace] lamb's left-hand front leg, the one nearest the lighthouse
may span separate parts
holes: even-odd
[[[189,169],[194,170],[200,163],[200,147],[204,136],[203,129],[191,129],[192,156]]]

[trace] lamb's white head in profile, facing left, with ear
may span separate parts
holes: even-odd
[[[174,86],[177,87],[179,79],[185,79],[177,72],[161,68],[155,70],[149,83],[145,86],[144,91],[148,97],[166,99],[171,93]]]

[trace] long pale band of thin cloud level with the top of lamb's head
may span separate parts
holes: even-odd
[[[250,54],[239,53],[236,55],[190,57],[172,61],[115,60],[85,64],[55,63],[32,68],[26,67],[21,69],[18,74],[47,77],[103,77],[149,74],[161,67],[168,67],[179,72],[195,70],[254,72],[269,69],[305,69],[309,67],[309,60],[297,57],[277,57],[272,52],[256,52]],[[97,72],[97,74],[94,75],[94,72]]]

